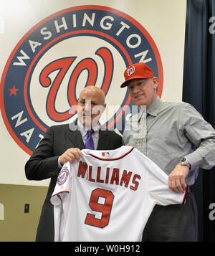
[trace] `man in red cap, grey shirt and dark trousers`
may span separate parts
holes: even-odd
[[[140,107],[125,125],[123,141],[142,151],[168,174],[168,186],[181,193],[192,186],[199,167],[215,165],[215,131],[188,103],[163,102],[157,95],[158,78],[145,63],[130,65],[124,72],[130,97]],[[141,118],[145,106],[145,121]],[[138,129],[133,123],[145,122],[145,144],[141,147]],[[141,130],[140,128],[140,131]],[[143,151],[143,148],[144,151]],[[154,207],[143,232],[143,241],[197,241],[197,210],[194,194],[186,203]]]

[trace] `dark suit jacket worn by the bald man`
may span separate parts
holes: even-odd
[[[39,181],[51,178],[39,219],[37,241],[54,241],[54,214],[50,197],[60,171],[58,166],[59,156],[68,148],[85,148],[81,133],[76,129],[75,122],[70,126],[54,125],[50,127],[25,165],[27,179]],[[115,149],[122,145],[122,137],[117,133],[100,130],[97,149]]]

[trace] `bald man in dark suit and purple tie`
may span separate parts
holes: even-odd
[[[37,228],[37,242],[54,241],[54,215],[50,197],[57,176],[67,161],[78,161],[87,142],[87,131],[92,131],[93,149],[108,150],[123,145],[122,137],[114,131],[101,129],[99,119],[106,108],[105,95],[100,88],[87,86],[80,93],[77,119],[66,125],[54,125],[47,129],[44,138],[25,165],[29,180],[50,178],[46,199]],[[72,228],[72,227],[71,227]]]

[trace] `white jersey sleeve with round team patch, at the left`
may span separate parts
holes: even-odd
[[[62,166],[62,169],[59,172],[59,175],[57,177],[57,183],[50,199],[53,205],[61,204],[65,194],[70,193],[70,168],[70,162],[67,162]]]

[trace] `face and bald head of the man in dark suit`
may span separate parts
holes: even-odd
[[[87,86],[80,93],[78,100],[78,118],[85,127],[92,128],[97,125],[105,107],[105,95],[102,90],[95,86]]]

